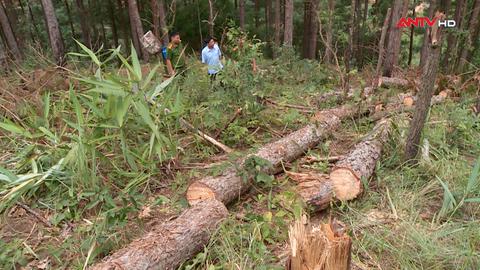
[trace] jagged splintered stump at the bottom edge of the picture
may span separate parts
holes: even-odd
[[[288,231],[290,258],[287,270],[347,270],[351,264],[352,241],[345,225],[333,220],[312,226],[297,220]]]

